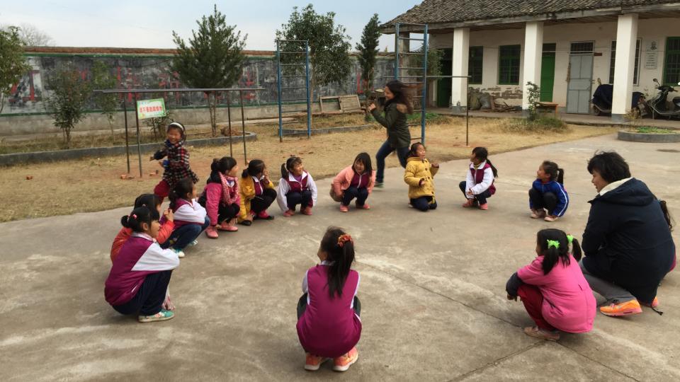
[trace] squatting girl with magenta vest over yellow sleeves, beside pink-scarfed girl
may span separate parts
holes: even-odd
[[[274,219],[274,216],[267,214],[267,209],[276,200],[276,190],[269,180],[269,172],[264,162],[259,159],[250,161],[248,168],[241,174],[240,183],[239,223],[249,226],[253,219]]]

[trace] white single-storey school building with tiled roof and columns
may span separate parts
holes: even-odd
[[[528,81],[540,86],[541,101],[577,114],[591,111],[599,83],[611,83],[611,118],[621,121],[634,91],[650,98],[653,79],[680,81],[678,0],[425,0],[382,32],[394,34],[395,23],[426,23],[429,49],[444,51],[443,75],[469,75],[470,87],[525,110]],[[399,37],[422,32],[399,25]],[[467,107],[465,79],[430,86],[433,105]]]

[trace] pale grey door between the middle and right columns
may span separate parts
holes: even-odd
[[[593,86],[593,54],[570,54],[567,112],[589,114]]]

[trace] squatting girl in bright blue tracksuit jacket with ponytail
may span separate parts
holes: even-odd
[[[564,186],[565,170],[557,163],[543,161],[536,171],[536,180],[529,190],[531,218],[555,221],[569,207],[569,195]],[[547,212],[547,214],[546,214]]]

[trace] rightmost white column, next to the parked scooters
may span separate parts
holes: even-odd
[[[611,120],[623,122],[633,102],[633,71],[635,71],[635,42],[638,40],[638,14],[618,16],[616,26],[616,63],[614,65],[614,94]]]

